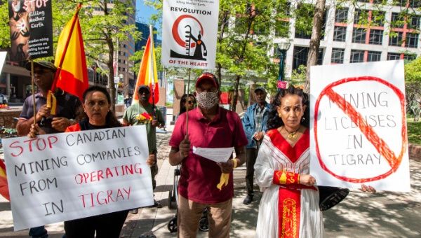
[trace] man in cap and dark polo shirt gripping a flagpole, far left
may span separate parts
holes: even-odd
[[[31,70],[30,62],[27,62],[26,69]],[[36,115],[34,116],[34,97],[30,95],[23,103],[22,112],[16,125],[20,137],[29,133],[34,120],[46,134],[64,132],[69,125],[76,123],[74,119],[82,110],[79,97],[58,89],[54,92],[57,99],[55,115],[51,115],[51,109],[46,105],[47,93],[53,85],[56,70],[57,68],[51,62],[34,62],[34,81],[38,87],[38,92],[35,94]],[[44,226],[29,229],[31,237],[48,237],[47,233]]]

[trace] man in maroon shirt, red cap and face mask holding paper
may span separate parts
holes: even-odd
[[[196,237],[199,219],[206,207],[209,237],[229,237],[234,196],[232,171],[246,161],[247,138],[239,116],[219,106],[218,88],[218,79],[212,73],[203,73],[197,78],[198,107],[180,114],[169,142],[170,164],[181,165],[178,237]],[[193,147],[234,147],[236,157],[217,163],[196,155]]]

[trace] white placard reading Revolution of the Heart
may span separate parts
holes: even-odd
[[[219,0],[164,0],[162,64],[215,69]]]

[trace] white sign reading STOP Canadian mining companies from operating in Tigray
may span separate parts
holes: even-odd
[[[15,230],[154,204],[144,125],[3,144]]]

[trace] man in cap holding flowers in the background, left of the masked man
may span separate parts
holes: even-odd
[[[138,88],[139,102],[132,104],[124,111],[123,125],[145,125],[147,134],[147,145],[149,154],[154,155],[154,165],[151,168],[152,188],[155,189],[156,181],[155,176],[158,174],[158,165],[156,164],[156,127],[163,127],[165,121],[161,111],[156,109],[156,106],[149,103],[151,90],[147,85],[140,85]],[[153,207],[162,207],[159,202],[154,201]],[[132,209],[131,214],[137,214],[138,209]]]

